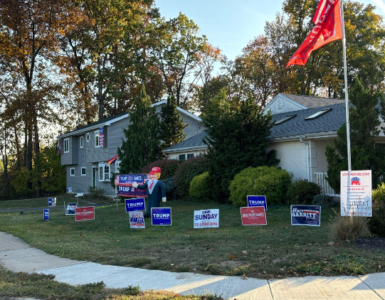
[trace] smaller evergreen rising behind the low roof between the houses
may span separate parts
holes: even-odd
[[[183,130],[188,126],[177,110],[176,99],[174,96],[167,98],[167,103],[161,108],[160,112],[160,139],[163,141],[162,148],[166,149],[172,145],[183,142],[187,134]]]

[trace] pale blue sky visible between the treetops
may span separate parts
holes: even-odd
[[[385,19],[385,0],[355,0],[377,7]],[[192,19],[208,42],[219,47],[229,59],[240,55],[254,37],[263,34],[266,21],[282,12],[283,0],[155,0],[166,19],[179,12]]]

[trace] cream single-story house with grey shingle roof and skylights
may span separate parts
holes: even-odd
[[[266,106],[275,125],[269,136],[269,149],[277,151],[279,167],[292,172],[294,178],[319,184],[324,193],[335,195],[325,180],[326,146],[334,145],[337,130],[345,123],[345,101],[342,99],[278,94]],[[169,158],[199,155],[207,151],[201,132],[178,145],[165,149]],[[377,142],[385,143],[383,134]]]

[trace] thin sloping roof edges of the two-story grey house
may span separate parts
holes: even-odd
[[[159,105],[162,105],[162,104],[165,104],[167,103],[167,100],[162,100],[162,101],[159,101],[159,102],[156,102],[156,103],[153,103],[151,106],[154,107],[154,106],[159,106]],[[180,108],[180,107],[177,107],[177,110],[187,116],[189,116],[190,118],[194,119],[195,121],[198,121],[198,122],[202,122],[202,119],[189,113],[188,111]],[[65,134],[62,134],[59,136],[59,138],[64,138],[64,137],[68,137],[68,136],[73,136],[73,135],[80,135],[86,131],[90,131],[90,130],[93,130],[93,129],[97,129],[99,127],[103,127],[103,126],[110,126],[112,123],[115,123],[115,122],[118,122],[122,119],[125,119],[125,118],[128,118],[129,117],[129,114],[128,113],[121,113],[121,114],[118,114],[118,115],[115,115],[115,116],[111,116],[111,117],[108,117],[106,119],[102,119],[102,120],[99,120],[97,122],[94,122],[92,124],[88,124],[86,126],[83,126],[83,127],[80,127],[80,128],[77,128],[73,131],[70,131],[70,132],[67,132]]]

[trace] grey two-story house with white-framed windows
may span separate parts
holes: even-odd
[[[160,113],[166,102],[167,100],[163,100],[153,104],[157,113]],[[184,123],[188,124],[184,129],[186,138],[203,131],[200,118],[179,107],[177,109]],[[58,137],[61,164],[66,166],[67,172],[67,192],[87,193],[88,188],[93,186],[105,189],[107,195],[115,194],[110,177],[112,173],[119,173],[117,148],[124,139],[123,129],[129,124],[128,113],[123,113]]]

